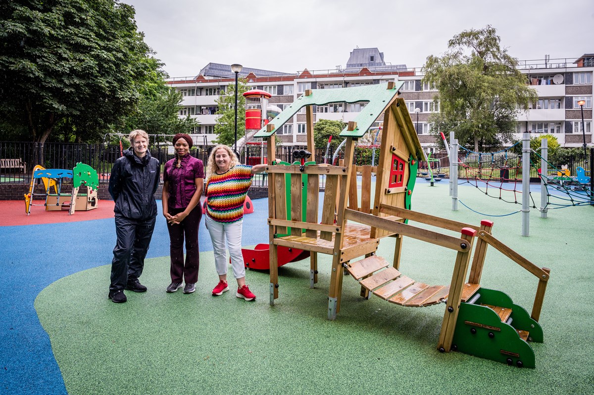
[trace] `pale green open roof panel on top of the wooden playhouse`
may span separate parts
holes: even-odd
[[[365,135],[375,120],[386,110],[386,107],[396,97],[398,90],[404,82],[396,82],[393,89],[387,89],[387,84],[364,85],[362,87],[339,88],[339,89],[313,89],[309,96],[302,95],[292,104],[287,106],[283,112],[274,117],[269,124],[274,125],[274,130],[266,131],[266,126],[258,130],[255,138],[266,138],[273,135],[276,130],[285,125],[296,113],[305,106],[323,106],[328,103],[358,103],[367,101],[365,108],[355,118],[357,127],[355,130],[343,129],[340,132],[342,137],[359,138]]]

